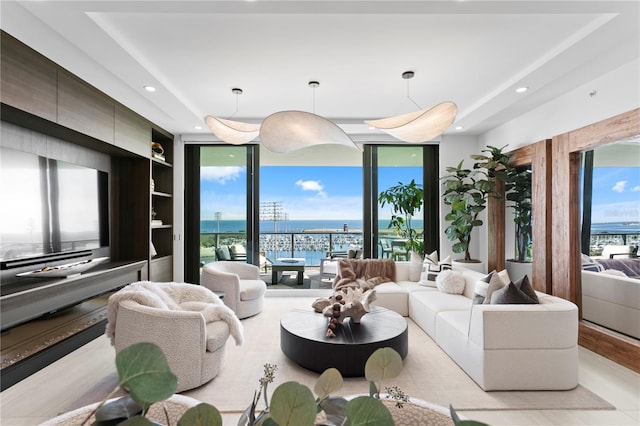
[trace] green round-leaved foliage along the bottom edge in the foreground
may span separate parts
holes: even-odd
[[[93,414],[94,425],[157,425],[146,416],[153,404],[169,398],[177,389],[177,378],[171,372],[167,360],[158,346],[152,343],[137,343],[116,355],[119,382],[114,391],[105,398],[111,398],[120,388],[129,395],[110,403],[104,401],[82,423]],[[332,396],[344,382],[335,368],[325,370],[316,382],[313,392],[297,382],[286,382],[273,392],[271,403],[267,387],[273,383],[277,366],[265,364],[264,375],[259,380],[260,387],[254,393],[251,404],[241,415],[240,426],[312,426],[312,425],[393,425],[389,409],[383,399],[394,399],[398,407],[409,401],[409,396],[397,387],[385,387],[387,396],[381,397],[379,389],[383,384],[397,377],[402,370],[402,358],[392,348],[376,350],[365,364],[365,378],[369,381],[369,394],[351,399]],[[315,394],[315,396],[314,396]],[[265,408],[256,409],[261,396]],[[169,416],[164,407],[166,424]],[[454,421],[457,414],[451,407]],[[454,417],[455,416],[455,417]],[[459,420],[458,420],[459,421]],[[462,421],[460,425],[478,426],[477,422]],[[178,420],[177,426],[221,426],[222,416],[212,405],[201,403],[188,409]]]

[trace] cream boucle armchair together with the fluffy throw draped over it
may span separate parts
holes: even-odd
[[[229,336],[242,343],[242,324],[213,292],[194,284],[139,282],[109,298],[106,334],[116,353],[139,342],[160,347],[178,378],[176,392],[220,372]]]

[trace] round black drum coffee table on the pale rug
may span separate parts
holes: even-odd
[[[364,376],[369,356],[391,347],[404,359],[409,350],[407,321],[389,309],[373,307],[360,324],[345,321],[336,337],[326,337],[329,318],[308,309],[294,309],[280,320],[280,348],[292,361],[318,373],[330,367],[345,377]]]

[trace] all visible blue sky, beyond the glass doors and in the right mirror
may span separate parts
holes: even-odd
[[[381,168],[380,189],[418,178],[419,168]],[[209,167],[202,171],[202,219],[244,219],[246,169]],[[260,201],[282,202],[289,220],[362,219],[359,167],[262,167]],[[640,167],[597,167],[593,179],[593,222],[640,221]],[[389,217],[385,208],[382,219]]]

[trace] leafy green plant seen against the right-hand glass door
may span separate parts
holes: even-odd
[[[422,232],[418,232],[411,225],[411,218],[422,208],[424,203],[424,191],[422,185],[417,184],[415,179],[382,191],[378,196],[380,206],[391,206],[391,220],[389,228],[394,228],[398,236],[406,239],[408,251],[413,251],[419,255],[424,255],[424,240]]]

